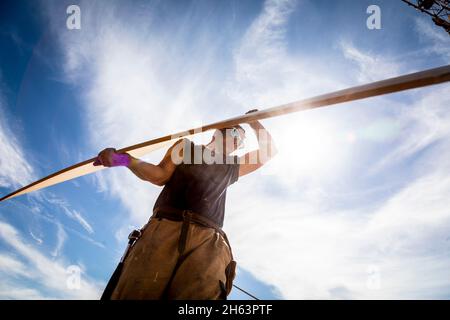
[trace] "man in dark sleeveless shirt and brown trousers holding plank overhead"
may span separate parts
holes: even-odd
[[[179,140],[158,165],[113,148],[99,153],[94,165],[127,166],[164,186],[149,222],[130,235],[102,299],[226,299],[236,268],[222,230],[226,189],[276,153],[263,125],[248,124],[259,148],[242,157],[231,156],[245,139],[239,125],[216,130],[206,146]]]

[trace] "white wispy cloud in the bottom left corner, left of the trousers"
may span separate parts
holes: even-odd
[[[46,257],[32,244],[26,242],[20,233],[10,224],[0,222],[0,238],[21,261],[8,256],[0,257],[0,270],[7,276],[8,281],[0,287],[0,295],[3,299],[23,298],[40,299],[66,298],[66,299],[96,299],[100,296],[103,284],[90,279],[83,269],[81,270],[80,286],[77,289],[68,286],[70,281],[70,265],[63,260],[54,260]],[[23,262],[22,262],[23,261]],[[29,289],[21,284],[20,279],[10,276],[23,276],[33,280],[43,288]],[[13,290],[8,292],[8,288]],[[50,293],[48,293],[50,292]]]

